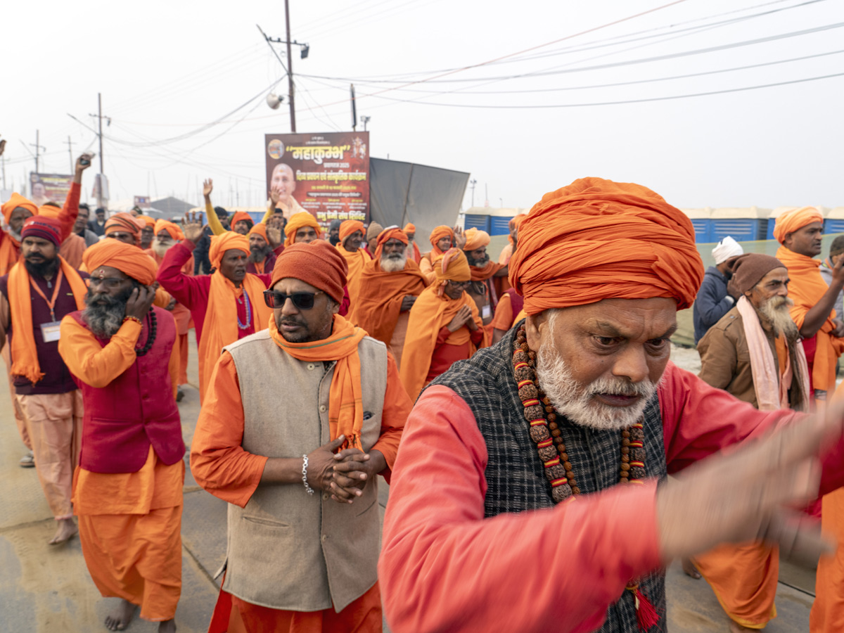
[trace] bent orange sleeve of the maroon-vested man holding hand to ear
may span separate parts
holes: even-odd
[[[123,322],[106,347],[94,334],[68,315],[59,329],[58,353],[68,369],[79,380],[101,389],[133,365],[137,359],[135,344],[141,335],[141,325],[132,320]]]

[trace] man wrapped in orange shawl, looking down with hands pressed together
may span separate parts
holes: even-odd
[[[472,298],[472,273],[456,248],[434,260],[436,281],[414,301],[402,354],[402,383],[414,400],[436,376],[489,344]]]

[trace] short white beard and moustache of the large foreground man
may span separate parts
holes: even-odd
[[[571,367],[551,344],[543,344],[539,348],[536,375],[539,386],[558,414],[565,415],[577,425],[598,430],[622,430],[635,425],[657,391],[657,385],[652,381],[630,382],[623,378],[598,378],[584,387],[571,376]],[[629,407],[613,407],[598,402],[594,398],[596,393],[638,395],[641,398]]]

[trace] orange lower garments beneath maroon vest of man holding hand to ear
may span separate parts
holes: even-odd
[[[185,463],[160,463],[150,446],[137,473],[77,468],[73,504],[91,579],[153,622],[173,619],[181,595],[181,489]]]

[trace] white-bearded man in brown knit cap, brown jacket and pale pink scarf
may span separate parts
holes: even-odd
[[[698,377],[755,408],[809,410],[809,368],[792,321],[788,270],[776,259],[748,253],[729,260],[738,302],[697,345]],[[722,545],[695,558],[727,613],[730,630],[755,630],[776,617],[776,545]],[[684,566],[690,576],[695,574]]]

